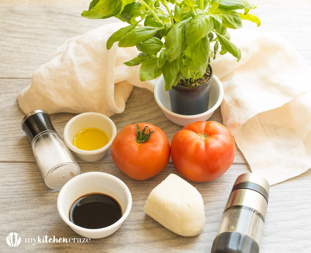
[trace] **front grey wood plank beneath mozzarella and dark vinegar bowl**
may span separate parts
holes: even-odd
[[[22,238],[80,237],[59,217],[56,208],[58,191],[45,186],[35,164],[2,163],[1,171],[1,235],[12,231]],[[221,215],[235,178],[249,172],[246,165],[232,165],[220,178],[207,183],[189,180],[202,194],[206,224],[201,234],[182,237],[162,227],[143,210],[151,190],[170,173],[179,173],[173,165],[145,181],[136,181],[123,174],[113,164],[81,164],[81,173],[102,171],[126,183],[131,191],[132,210],[121,228],[109,237],[91,240],[90,244],[21,242],[19,252],[210,252]],[[16,176],[18,175],[18,176]],[[180,175],[179,175],[180,176]],[[310,192],[311,170],[271,188],[267,220],[261,253],[310,252],[311,203],[305,192]],[[12,203],[12,204],[10,204]],[[13,204],[14,203],[14,204]],[[25,239],[23,239],[25,240]],[[0,240],[5,252],[13,252],[5,240]]]

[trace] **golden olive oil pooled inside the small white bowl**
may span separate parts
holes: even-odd
[[[88,127],[82,129],[73,137],[73,146],[82,150],[96,150],[109,142],[107,134],[98,128]]]

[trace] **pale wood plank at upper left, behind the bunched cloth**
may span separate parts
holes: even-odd
[[[118,21],[88,20],[85,6],[2,6],[0,77],[30,77],[67,38]]]

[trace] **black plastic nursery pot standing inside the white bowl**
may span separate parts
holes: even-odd
[[[172,112],[181,115],[196,115],[208,110],[213,77],[213,69],[211,65],[208,66],[211,69],[211,76],[205,84],[194,88],[172,86],[169,90]]]

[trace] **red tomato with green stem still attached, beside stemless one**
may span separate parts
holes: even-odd
[[[114,138],[111,157],[115,165],[129,177],[145,180],[165,169],[169,163],[170,147],[169,140],[160,128],[147,123],[137,124],[141,132],[145,126],[154,131],[150,139],[138,143],[136,124],[127,125]],[[149,130],[146,130],[146,133],[149,133]]]

